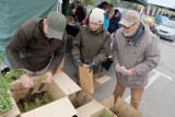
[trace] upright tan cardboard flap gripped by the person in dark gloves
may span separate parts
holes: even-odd
[[[80,85],[86,93],[92,94],[94,92],[93,73],[89,72],[88,65],[82,65],[79,68]]]

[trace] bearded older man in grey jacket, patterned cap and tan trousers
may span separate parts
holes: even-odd
[[[135,10],[126,11],[119,23],[121,28],[116,32],[114,42],[115,101],[122,96],[126,87],[130,87],[130,104],[139,109],[148,73],[160,61],[159,37],[141,22]]]

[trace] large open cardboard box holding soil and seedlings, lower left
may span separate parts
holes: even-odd
[[[34,82],[37,84],[42,82],[39,78],[35,77],[33,79],[35,79]],[[39,85],[35,86],[33,93],[38,92],[38,86]],[[27,89],[24,89],[22,86],[20,80],[13,82],[10,90],[15,102],[18,102],[22,97],[25,97],[28,92]],[[42,90],[48,92],[54,98],[54,102],[23,114],[20,113],[15,104],[15,108],[13,108],[15,115],[13,115],[12,117],[16,115],[21,115],[21,117],[49,117],[50,115],[51,117],[71,117],[73,115],[77,115],[77,110],[74,109],[67,95],[70,95],[79,90],[81,89],[67,74],[65,74],[62,71],[57,71],[56,75],[54,75],[52,81],[49,84],[45,85]]]

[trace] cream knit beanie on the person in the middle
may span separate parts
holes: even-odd
[[[90,22],[103,24],[103,22],[104,22],[104,10],[102,10],[100,8],[93,9],[92,13],[90,14]]]

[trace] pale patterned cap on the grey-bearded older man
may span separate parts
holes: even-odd
[[[122,19],[119,24],[125,25],[126,27],[130,27],[140,21],[140,15],[136,10],[128,10],[125,12]]]

